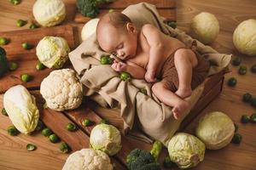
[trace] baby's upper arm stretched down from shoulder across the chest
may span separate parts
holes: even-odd
[[[163,43],[160,35],[161,32],[156,27],[149,24],[143,26],[142,32],[146,37],[150,48],[145,79],[147,82],[155,82],[156,70],[158,65],[160,65],[160,61],[162,59],[161,55],[163,53]]]

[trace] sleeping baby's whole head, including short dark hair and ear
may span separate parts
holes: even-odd
[[[130,59],[137,53],[137,28],[125,14],[105,14],[98,22],[96,37],[104,51],[119,59]]]

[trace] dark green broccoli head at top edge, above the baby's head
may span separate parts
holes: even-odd
[[[95,18],[99,14],[99,4],[112,2],[113,0],[77,0],[77,7],[84,16]]]

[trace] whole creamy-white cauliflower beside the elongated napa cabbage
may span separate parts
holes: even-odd
[[[83,99],[82,84],[72,69],[51,71],[41,83],[40,93],[55,111],[76,109]]]

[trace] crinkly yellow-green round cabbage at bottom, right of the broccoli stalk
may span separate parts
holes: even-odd
[[[195,167],[203,161],[206,146],[189,133],[177,133],[168,144],[171,161],[180,168]]]

